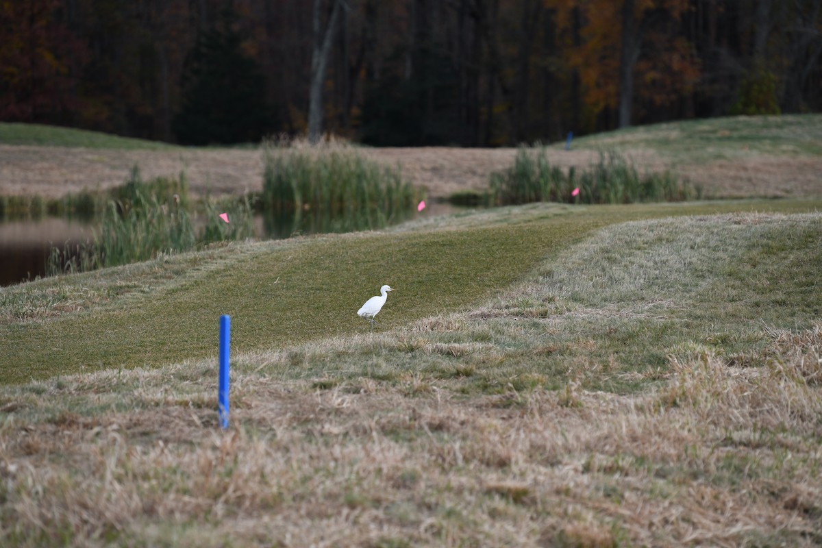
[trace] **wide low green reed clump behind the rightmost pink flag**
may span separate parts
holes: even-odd
[[[536,201],[630,204],[682,201],[702,197],[701,189],[680,182],[670,172],[644,173],[616,152],[600,152],[598,163],[568,172],[552,165],[544,147],[520,147],[514,166],[492,173],[489,202],[518,205]],[[579,188],[579,194],[572,192]]]

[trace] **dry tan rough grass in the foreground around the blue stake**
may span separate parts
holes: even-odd
[[[0,539],[817,546],[822,325],[769,333],[767,366],[672,359],[630,396],[463,398],[411,371],[284,382],[266,371],[287,352],[250,356],[225,432],[209,362],[7,390]]]

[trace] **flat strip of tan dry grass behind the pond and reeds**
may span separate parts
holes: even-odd
[[[425,187],[429,198],[464,189],[485,190],[490,173],[513,165],[516,150],[451,147],[361,149],[364,156],[399,165],[413,184]],[[640,171],[661,170],[666,164],[653,150],[626,152]],[[598,159],[594,150],[548,149],[552,163],[585,167]],[[0,195],[64,196],[86,188],[121,185],[132,166],[145,178],[177,177],[186,173],[197,196],[261,191],[261,150],[104,150],[30,145],[0,145]],[[709,196],[819,196],[822,159],[747,156],[713,163],[677,161],[676,173],[700,184]]]

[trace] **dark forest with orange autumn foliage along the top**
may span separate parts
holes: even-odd
[[[822,110],[819,0],[0,2],[0,120],[515,145]]]

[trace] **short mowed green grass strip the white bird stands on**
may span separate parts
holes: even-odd
[[[99,291],[85,287],[94,283],[88,274],[40,280],[0,292],[0,310],[7,318],[0,325],[2,382],[212,356],[223,314],[232,317],[232,349],[238,353],[362,334],[368,324],[356,311],[383,283],[395,288],[377,316],[376,329],[386,331],[477,305],[609,224],[669,215],[807,211],[820,205],[742,200],[501,209],[446,220],[436,228],[420,223],[416,229],[386,233],[242,244],[239,252],[211,250],[190,272],[177,265],[173,274],[164,275],[164,260],[158,260],[118,270],[116,279],[103,285],[132,289],[91,299],[94,306],[43,318],[10,310],[30,300],[25,295],[31,292]],[[185,257],[197,262],[196,255]],[[65,305],[48,307],[71,309]]]

